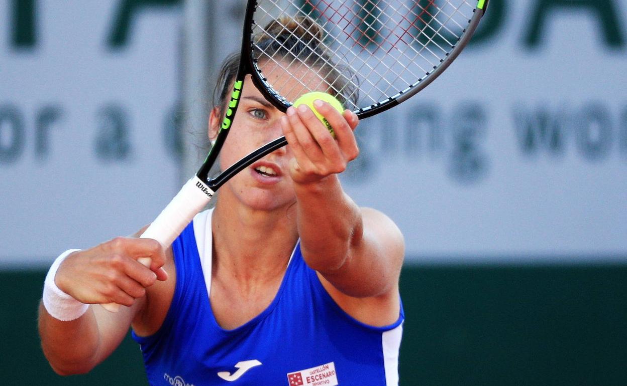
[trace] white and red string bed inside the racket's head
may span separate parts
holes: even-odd
[[[291,77],[277,77],[268,84],[275,94],[283,95],[290,89],[293,95],[330,88],[340,94],[350,109],[380,103],[403,93],[424,79],[443,61],[461,38],[465,25],[472,18],[474,7],[466,0],[405,1],[365,0],[305,0],[297,6],[281,0],[261,0],[255,11],[255,36],[268,36],[280,47],[282,54],[265,52],[261,44],[253,43],[258,63],[272,64],[272,71],[280,69]],[[282,24],[280,34],[265,26],[280,18],[297,16],[315,20],[303,31],[290,31]],[[317,37],[319,28],[323,36]],[[300,34],[300,35],[299,35]],[[281,40],[281,41],[280,41]],[[288,44],[288,40],[291,43]],[[299,57],[291,58],[293,42],[308,49]],[[276,51],[276,50],[275,50]],[[320,54],[324,52],[328,56]],[[312,81],[303,68],[318,68]],[[261,75],[268,81],[269,74]],[[311,72],[311,71],[310,71]],[[293,74],[295,73],[295,74]],[[295,90],[295,85],[302,90]],[[282,92],[283,91],[283,92]],[[356,99],[361,98],[359,101]],[[284,101],[290,102],[282,96]]]

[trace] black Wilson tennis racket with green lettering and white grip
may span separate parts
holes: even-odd
[[[292,105],[288,93],[300,96],[324,89],[366,118],[403,103],[438,78],[470,41],[487,3],[249,0],[239,68],[216,141],[198,173],[141,237],[171,245],[229,178],[287,145],[285,137],[277,138],[218,176],[209,175],[233,123],[246,74],[280,111]],[[301,89],[295,90],[294,84]],[[140,262],[150,265],[149,258]],[[119,308],[115,303],[103,306],[112,312]]]

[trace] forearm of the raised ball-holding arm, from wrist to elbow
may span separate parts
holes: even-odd
[[[320,272],[337,270],[361,240],[363,224],[359,208],[345,195],[337,175],[312,184],[295,185],[303,257]]]

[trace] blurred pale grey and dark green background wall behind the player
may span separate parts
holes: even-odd
[[[244,3],[0,0],[6,384],[145,384],[130,340],[90,375],[51,372],[43,277],[200,165]],[[491,0],[443,76],[362,122],[342,181],[406,236],[401,385],[627,382],[624,84],[627,0]]]

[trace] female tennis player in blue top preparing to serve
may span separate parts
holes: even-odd
[[[210,139],[238,60],[221,70]],[[56,260],[39,327],[57,373],[89,372],[132,327],[151,385],[398,384],[403,236],[340,185],[359,153],[357,116],[314,106],[335,138],[307,106],[284,114],[246,79],[221,168],[280,135],[287,147],[228,181],[167,250],[119,237]],[[110,302],[127,307],[100,306]]]

